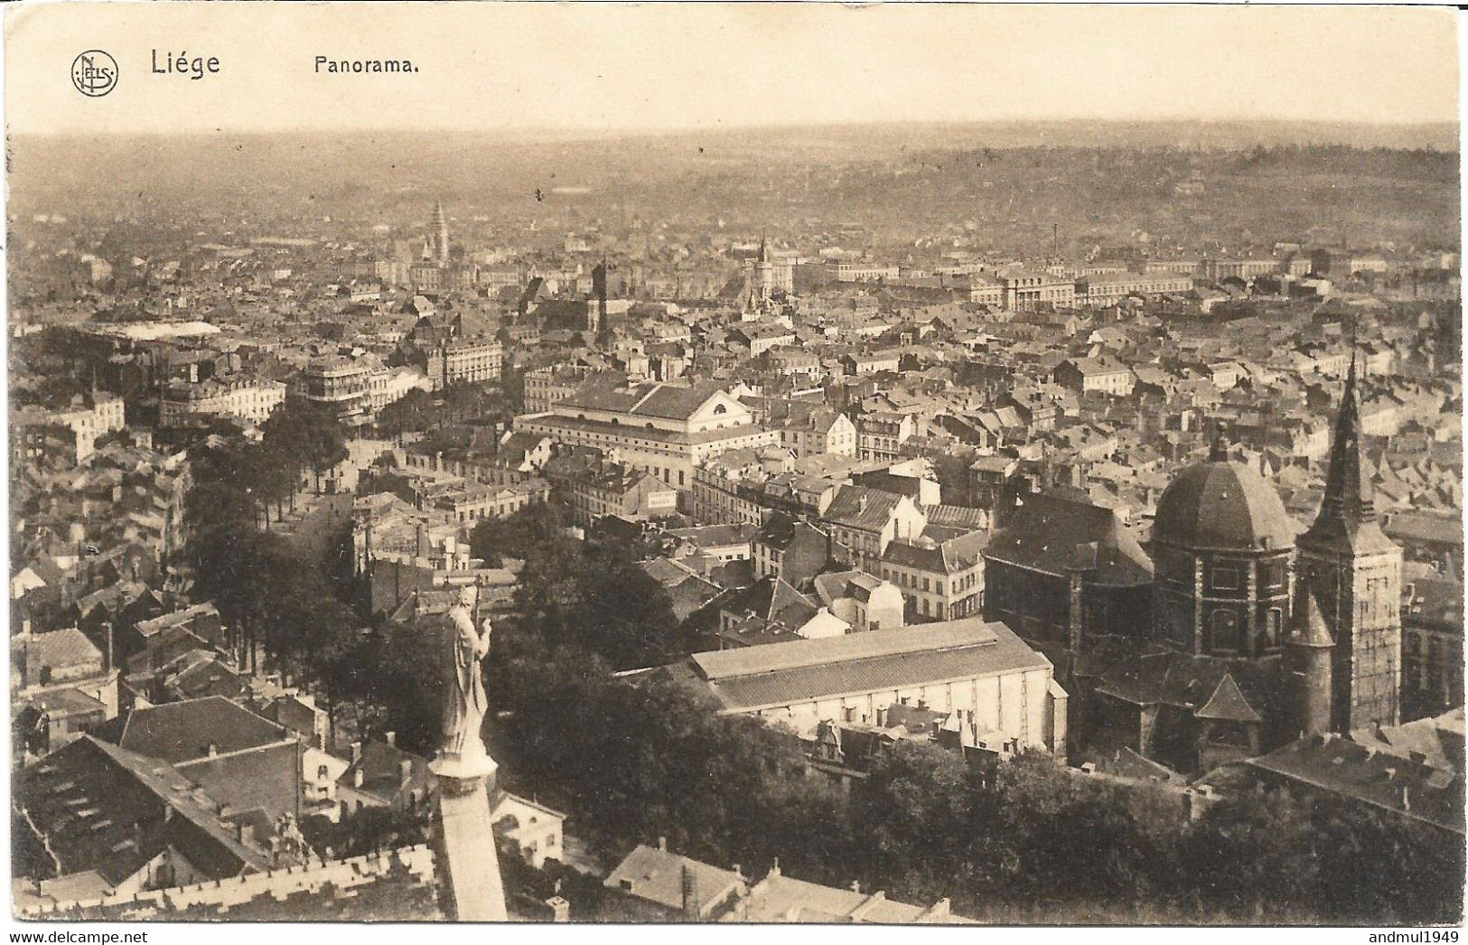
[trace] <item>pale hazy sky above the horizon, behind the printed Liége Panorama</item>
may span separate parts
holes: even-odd
[[[88,98],[72,60],[109,51]],[[216,56],[201,81],[153,50]],[[410,59],[327,75],[314,57]],[[1458,119],[1446,9],[185,4],[6,10],[12,132]]]

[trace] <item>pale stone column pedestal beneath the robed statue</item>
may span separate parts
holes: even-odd
[[[499,851],[489,819],[489,795],[499,766],[484,756],[443,756],[429,763],[435,776],[435,853],[445,911],[457,922],[508,922]]]

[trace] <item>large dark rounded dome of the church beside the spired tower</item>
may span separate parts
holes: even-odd
[[[1295,527],[1264,477],[1214,448],[1207,462],[1183,470],[1163,492],[1152,540],[1188,549],[1282,550]]]

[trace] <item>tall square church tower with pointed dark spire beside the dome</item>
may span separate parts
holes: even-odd
[[[1402,549],[1381,531],[1361,462],[1356,361],[1336,414],[1326,496],[1295,541],[1296,593],[1314,593],[1336,641],[1330,728],[1396,725],[1402,682]]]

